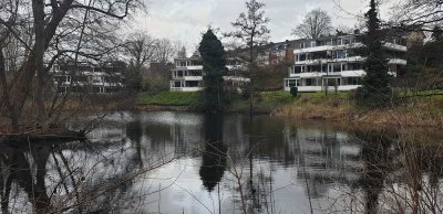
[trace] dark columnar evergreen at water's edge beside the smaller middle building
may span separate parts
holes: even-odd
[[[226,52],[212,29],[203,35],[198,51],[203,61],[205,111],[222,111],[225,97],[223,75],[226,71]]]

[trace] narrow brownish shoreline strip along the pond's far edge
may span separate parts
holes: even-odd
[[[155,105],[137,105],[136,110],[142,111],[187,111],[203,113],[190,106],[155,106]],[[239,110],[229,108],[225,113],[243,113],[248,110]],[[443,115],[426,115],[409,113],[402,108],[387,108],[375,110],[357,110],[350,107],[331,107],[331,106],[292,106],[285,105],[277,108],[259,108],[254,114],[265,114],[271,117],[282,117],[290,119],[301,119],[310,121],[327,121],[343,126],[378,126],[389,127],[398,126],[408,128],[441,128],[443,127]]]

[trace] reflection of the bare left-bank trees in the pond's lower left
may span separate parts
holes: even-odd
[[[52,143],[0,147],[3,213],[106,213],[127,207],[123,199],[135,199],[128,178],[137,174],[140,160],[127,145]]]

